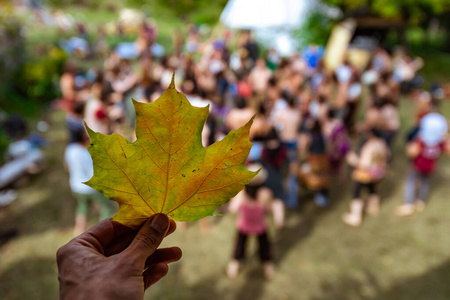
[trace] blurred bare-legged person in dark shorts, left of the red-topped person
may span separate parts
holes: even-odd
[[[389,149],[377,129],[370,129],[367,135],[359,155],[355,152],[347,155],[348,163],[354,167],[352,178],[355,188],[353,200],[350,202],[350,212],[344,214],[342,220],[350,226],[360,226],[362,223],[365,206],[361,198],[363,188],[369,192],[365,211],[371,215],[378,215],[380,211],[380,197],[376,185],[386,175]]]

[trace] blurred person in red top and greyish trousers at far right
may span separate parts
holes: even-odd
[[[425,208],[430,178],[436,172],[439,157],[450,154],[447,131],[447,120],[438,113],[429,113],[420,121],[418,134],[406,146],[411,168],[405,183],[405,203],[395,211],[398,216],[409,216]]]

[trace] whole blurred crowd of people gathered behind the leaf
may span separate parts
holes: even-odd
[[[80,186],[93,172],[83,121],[104,134],[132,132],[131,99],[155,101],[173,74],[177,89],[193,106],[209,105],[202,134],[205,147],[256,116],[248,164],[262,166],[264,171],[229,205],[239,215],[229,277],[238,275],[250,235],[258,236],[266,277],[273,276],[265,214],[273,212],[275,224],[281,227],[284,209],[295,209],[308,193],[318,207],[325,208],[333,203],[329,192],[333,183],[341,186],[351,180],[350,209],[342,221],[359,226],[365,213],[378,214],[378,183],[392,166],[394,154],[400,155],[393,151],[396,139],[404,141],[405,152],[400,152],[406,153],[411,167],[404,203],[399,203],[395,213],[406,216],[425,208],[429,178],[450,144],[446,142],[447,120],[439,114],[442,90],[421,87],[422,59],[405,50],[379,47],[364,68],[344,57],[331,70],[319,46],[311,45],[290,57],[280,57],[273,49],[262,55],[250,31],[237,36],[227,31],[220,38],[202,40],[192,25],[186,39],[174,35],[171,54],[156,43],[157,36],[155,25],[143,23],[135,42],[108,52],[99,35],[92,49],[105,58],[103,68],[81,70],[69,61],[61,76],[61,105],[67,111],[70,136],[66,162],[79,201],[76,233],[85,229],[91,196],[102,207],[101,218],[111,213],[109,204],[94,190]],[[397,134],[399,100],[405,94],[415,113],[409,116],[414,127],[404,139]],[[128,137],[135,139],[133,134]]]

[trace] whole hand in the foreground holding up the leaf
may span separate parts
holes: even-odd
[[[143,299],[181,258],[178,247],[157,249],[175,229],[164,214],[139,231],[109,219],[94,225],[57,252],[60,299]]]

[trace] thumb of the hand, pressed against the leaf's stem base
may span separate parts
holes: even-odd
[[[127,258],[142,262],[156,251],[169,229],[169,218],[165,214],[154,214],[148,219],[137,233],[130,246],[123,252]]]

